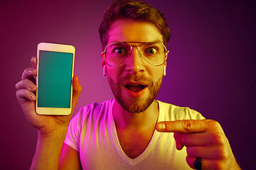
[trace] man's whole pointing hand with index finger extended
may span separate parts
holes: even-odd
[[[201,157],[202,169],[240,169],[227,137],[214,120],[177,120],[156,124],[159,132],[174,132],[176,148],[187,147],[186,162],[193,167]]]

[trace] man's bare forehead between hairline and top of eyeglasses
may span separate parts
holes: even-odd
[[[163,42],[163,36],[154,23],[119,19],[110,26],[108,43],[120,41]]]

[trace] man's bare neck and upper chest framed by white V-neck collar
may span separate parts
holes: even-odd
[[[129,113],[124,111],[117,101],[113,107],[114,121],[117,129],[119,143],[128,157],[139,157],[154,134],[156,122],[159,117],[157,101],[142,113]]]

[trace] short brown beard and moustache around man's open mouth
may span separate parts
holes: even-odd
[[[109,78],[108,81],[110,83],[110,88],[112,89],[112,92],[114,94],[114,98],[116,98],[117,102],[124,108],[125,111],[128,111],[129,113],[141,113],[143,111],[146,111],[149,106],[151,106],[151,103],[155,100],[160,86],[162,82],[163,77],[158,79],[157,81],[152,81],[149,78],[144,77],[143,75],[127,75],[124,77],[120,77],[117,79],[117,81],[114,81],[113,79]],[[146,88],[149,90],[149,94],[143,94],[142,97],[139,98],[132,98],[129,96],[124,96],[122,94],[122,90],[124,87],[124,81],[140,81],[147,84]],[[145,96],[147,95],[147,96]]]

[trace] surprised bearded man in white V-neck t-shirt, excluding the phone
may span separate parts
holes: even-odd
[[[114,99],[81,108],[71,121],[71,115],[38,115],[35,57],[16,84],[23,112],[38,130],[31,169],[194,169],[198,160],[202,169],[240,169],[217,122],[155,100],[171,36],[160,11],[114,1],[99,32]],[[81,90],[75,76],[73,108]]]

